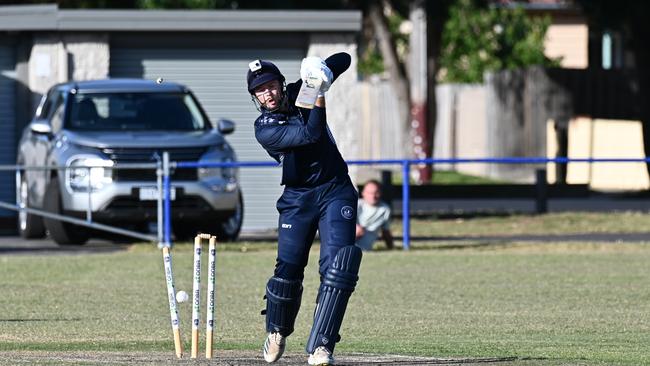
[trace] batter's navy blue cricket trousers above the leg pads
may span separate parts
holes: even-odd
[[[348,176],[316,187],[285,187],[277,202],[280,219],[275,276],[287,280],[304,278],[317,229],[322,276],[340,248],[354,245],[357,201],[357,191]]]

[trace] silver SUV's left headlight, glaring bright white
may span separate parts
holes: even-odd
[[[66,174],[68,186],[77,192],[97,191],[113,182],[113,161],[101,158],[81,157],[71,160]]]

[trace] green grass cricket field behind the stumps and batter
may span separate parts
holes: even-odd
[[[425,236],[650,232],[650,216],[626,213],[447,221],[414,221],[413,231]],[[425,247],[365,255],[337,353],[513,357],[522,365],[650,364],[650,241]],[[162,256],[148,244],[125,248],[0,255],[0,352],[173,354]],[[258,350],[273,245],[222,249],[216,347]],[[316,249],[289,352],[301,352],[308,335]],[[176,290],[189,292],[190,246],[176,246],[173,255]],[[187,349],[189,303],[180,304],[180,311]]]

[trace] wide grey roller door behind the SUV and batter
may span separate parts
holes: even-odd
[[[236,123],[227,137],[240,161],[271,161],[257,144],[253,121],[259,115],[246,91],[248,63],[256,58],[276,62],[289,80],[299,77],[305,50],[133,48],[111,46],[110,76],[176,81],[195,93],[212,122],[219,118]],[[275,202],[282,193],[279,168],[242,168],[244,192],[243,230],[276,228]]]

